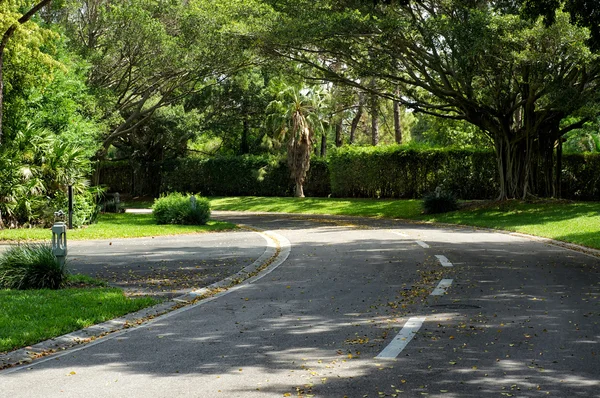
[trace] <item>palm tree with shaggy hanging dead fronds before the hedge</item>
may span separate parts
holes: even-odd
[[[287,138],[287,158],[295,183],[294,196],[304,197],[304,181],[316,132],[323,130],[326,95],[315,88],[281,84],[268,106],[269,118],[280,140]]]

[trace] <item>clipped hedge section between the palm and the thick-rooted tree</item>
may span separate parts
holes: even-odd
[[[496,190],[489,151],[411,146],[348,147],[329,158],[337,197],[420,198],[443,185],[464,199],[487,199]]]

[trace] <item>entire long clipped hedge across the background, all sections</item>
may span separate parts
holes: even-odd
[[[600,200],[600,154],[565,155],[562,164],[564,198]],[[498,192],[496,173],[495,157],[490,151],[348,147],[333,151],[327,160],[311,160],[305,194],[421,198],[441,185],[461,199],[490,199]],[[268,156],[183,158],[135,167],[106,165],[100,170],[100,182],[112,191],[136,195],[293,194],[285,160]]]

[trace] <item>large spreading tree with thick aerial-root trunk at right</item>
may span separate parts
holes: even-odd
[[[557,12],[547,26],[506,1],[284,3],[293,33],[277,37],[293,39],[275,40],[280,55],[418,112],[476,125],[494,143],[499,198],[553,194],[554,145],[595,113],[600,92],[589,32],[568,15]],[[345,68],[314,63],[315,53]],[[401,96],[374,90],[373,77]]]

